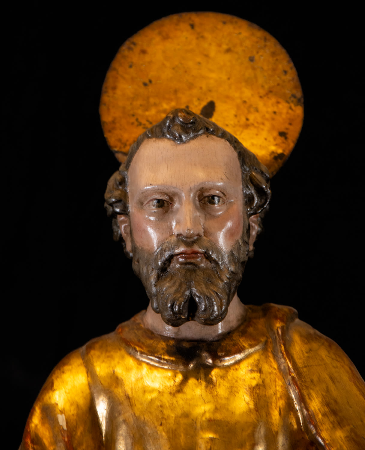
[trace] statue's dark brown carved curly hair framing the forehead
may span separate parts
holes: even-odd
[[[201,135],[213,135],[225,139],[238,155],[242,171],[243,198],[248,217],[260,213],[263,217],[270,201],[270,178],[265,166],[257,157],[239,142],[237,138],[216,123],[203,116],[194,114],[189,109],[174,109],[161,122],[151,126],[142,133],[131,145],[126,162],[118,171],[114,172],[108,181],[105,192],[105,208],[108,216],[112,217],[114,240],[122,241],[124,251],[126,247],[117,222],[118,214],[128,214],[128,169],[135,153],[146,139],[166,138],[177,144],[184,144]],[[260,231],[260,229],[259,229]],[[127,256],[131,255],[126,252]]]

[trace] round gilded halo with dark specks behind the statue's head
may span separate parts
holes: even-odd
[[[129,147],[172,109],[225,128],[275,175],[303,122],[291,59],[257,25],[220,13],[174,14],[126,40],[106,75],[100,117],[109,147]]]

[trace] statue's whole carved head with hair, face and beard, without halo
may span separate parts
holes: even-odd
[[[270,200],[257,158],[215,123],[176,109],[131,146],[105,200],[153,310],[172,326],[223,320]]]

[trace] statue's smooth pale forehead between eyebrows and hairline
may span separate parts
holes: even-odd
[[[185,144],[146,139],[128,171],[133,190],[160,185],[185,189],[201,183],[242,186],[237,153],[225,139],[203,135]]]

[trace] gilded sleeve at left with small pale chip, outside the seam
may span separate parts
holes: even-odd
[[[45,382],[27,420],[19,450],[103,450],[80,351],[66,356]]]

